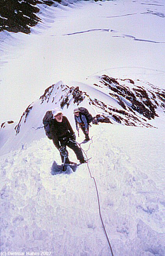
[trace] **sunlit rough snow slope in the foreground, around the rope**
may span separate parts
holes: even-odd
[[[165,254],[163,131],[93,125],[92,144],[82,145],[92,157],[89,168],[115,256]],[[69,155],[76,161],[73,151]],[[87,164],[51,175],[53,161],[61,162],[46,138],[0,159],[2,251],[111,255]]]

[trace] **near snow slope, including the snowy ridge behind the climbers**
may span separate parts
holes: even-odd
[[[59,81],[28,106],[17,126],[14,123],[2,126],[2,252],[41,255],[44,251],[52,256],[165,254],[165,126],[160,98],[154,97],[147,83],[135,81],[134,85],[129,80],[121,80],[126,85],[122,90],[127,88],[128,92],[135,88],[144,89],[144,85],[146,90],[149,87],[147,92],[151,93],[151,101],[160,101],[160,106],[156,108],[158,116],[146,122],[142,114],[134,112],[135,120],[131,121],[141,127],[126,126],[125,119],[118,124],[113,119],[114,114],[106,110],[108,106],[117,111],[124,110],[112,94],[114,88],[120,87],[115,83],[121,83],[120,79],[112,80],[114,82],[107,87],[100,76],[89,80],[97,85],[72,82],[68,87]],[[76,90],[77,85],[82,91]],[[136,98],[139,93],[135,94]],[[140,98],[141,95],[139,102]],[[126,106],[124,111],[129,114],[130,101],[123,96],[122,99]],[[102,102],[101,105],[98,102]],[[75,172],[54,175],[54,161],[60,165],[61,160],[53,142],[44,135],[42,119],[47,110],[61,104],[64,104],[63,112],[74,130],[73,108],[77,105],[87,107],[92,115],[105,114],[112,123],[99,123],[90,128],[92,141],[82,145],[87,157],[92,157],[88,165],[79,166]],[[122,114],[116,114],[122,117]],[[137,117],[139,123],[136,123]],[[128,122],[131,119],[127,115],[124,118]],[[144,127],[147,123],[158,128]],[[77,139],[78,142],[83,140],[81,132]],[[71,150],[69,158],[77,161]],[[97,190],[90,173],[95,178]]]

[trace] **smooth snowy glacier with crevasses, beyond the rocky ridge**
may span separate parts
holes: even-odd
[[[0,34],[0,123],[18,121],[53,83],[100,70],[164,88],[164,0],[69,3],[41,7],[43,22],[30,35]]]

